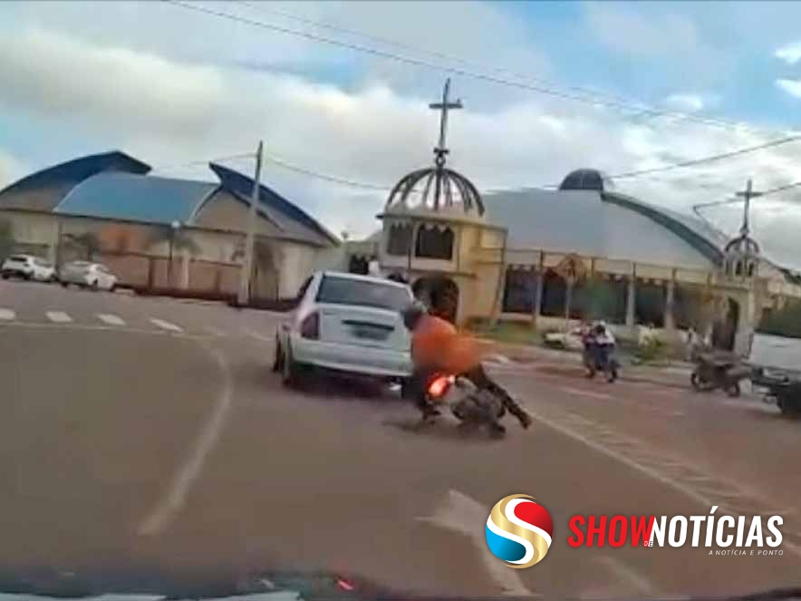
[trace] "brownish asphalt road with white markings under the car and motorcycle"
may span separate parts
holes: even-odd
[[[801,423],[753,399],[516,368],[503,441],[425,432],[369,385],[285,390],[280,315],[0,282],[0,569],[358,573],[449,595],[675,596],[801,582]],[[487,554],[498,499],[554,520],[536,567]],[[785,519],[781,556],[570,548],[582,515]]]

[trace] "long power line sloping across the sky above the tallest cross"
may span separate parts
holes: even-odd
[[[362,44],[352,44],[348,42],[343,42],[342,40],[336,40],[333,38],[325,37],[323,35],[318,34],[311,34],[309,32],[298,31],[296,29],[292,29],[289,27],[284,27],[282,25],[272,24],[272,23],[265,23],[264,21],[256,21],[255,19],[251,19],[246,16],[242,15],[232,15],[231,13],[226,13],[224,11],[215,10],[212,8],[207,8],[205,6],[198,6],[198,5],[191,5],[186,2],[182,2],[181,0],[162,0],[170,5],[176,5],[188,10],[197,11],[198,13],[204,13],[206,15],[213,15],[219,18],[227,19],[230,21],[236,21],[238,23],[249,24],[256,27],[261,27],[263,29],[268,29],[270,31],[274,31],[280,34],[288,34],[288,35],[296,35],[300,37],[304,37],[309,40],[313,40],[314,42],[319,42],[322,44],[331,44],[334,46],[339,46],[341,48],[347,48],[349,50],[353,50],[356,52],[361,53],[368,53],[372,54],[373,56],[379,56],[384,59],[389,59],[392,61],[396,61],[398,63],[407,63],[418,67],[424,67],[427,69],[439,71],[440,73],[452,73],[456,75],[461,75],[464,77],[468,77],[471,79],[475,79],[478,81],[484,82],[491,82],[497,83],[500,85],[506,85],[511,87],[520,88],[523,90],[528,90],[529,92],[536,92],[541,94],[546,94],[550,96],[555,96],[556,98],[562,98],[564,100],[570,100],[575,102],[584,102],[589,103],[594,106],[603,106],[604,108],[610,109],[617,109],[617,110],[628,110],[628,111],[638,111],[638,117],[642,117],[643,115],[651,115],[651,116],[660,116],[660,117],[672,117],[676,119],[681,119],[685,121],[694,121],[698,123],[702,123],[705,125],[710,125],[719,128],[725,129],[737,129],[740,131],[754,131],[760,132],[758,129],[752,128],[745,124],[738,124],[738,123],[731,123],[729,121],[719,121],[714,119],[709,119],[705,117],[697,117],[695,115],[690,115],[687,113],[682,112],[674,112],[674,111],[661,111],[659,109],[645,109],[643,110],[642,106],[632,106],[631,104],[627,104],[625,102],[617,102],[614,100],[604,100],[604,99],[592,99],[586,98],[584,96],[570,93],[570,92],[563,92],[561,90],[555,90],[553,88],[545,87],[544,85],[534,85],[526,82],[515,82],[511,81],[502,77],[497,77],[494,75],[488,75],[487,73],[475,73],[470,72],[466,69],[461,69],[454,66],[447,66],[441,65],[437,63],[430,63],[429,61],[424,61],[422,59],[410,57],[410,56],[403,56],[401,54],[391,53],[384,50],[380,50],[378,48],[372,48],[370,46],[365,46]],[[765,131],[761,131],[764,133]]]

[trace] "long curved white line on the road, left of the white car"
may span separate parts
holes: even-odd
[[[215,363],[223,374],[222,390],[217,397],[211,417],[200,431],[198,440],[188,457],[188,460],[181,466],[169,487],[167,495],[161,499],[159,504],[150,512],[150,515],[142,520],[139,533],[142,536],[154,536],[169,523],[169,520],[179,512],[184,506],[189,489],[198,479],[203,464],[208,453],[217,443],[220,432],[226,425],[228,412],[231,410],[231,402],[234,397],[234,380],[231,375],[226,358],[217,349],[203,345],[208,353],[214,358]]]

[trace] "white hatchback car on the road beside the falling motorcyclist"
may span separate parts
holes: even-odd
[[[401,309],[414,296],[381,277],[323,271],[298,295],[299,304],[275,335],[274,370],[297,383],[306,366],[401,380],[411,373],[410,334]]]

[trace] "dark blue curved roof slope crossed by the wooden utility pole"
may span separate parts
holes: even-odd
[[[217,163],[209,163],[208,166],[217,174],[223,188],[233,192],[236,198],[247,205],[250,204],[250,196],[253,191],[252,178]],[[310,234],[314,234],[320,242],[326,245],[339,244],[339,239],[323,228],[316,219],[264,184],[259,184],[259,200],[265,215],[286,232],[306,238]]]

